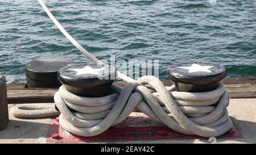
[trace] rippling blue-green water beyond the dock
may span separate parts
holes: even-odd
[[[100,59],[158,59],[160,78],[180,61],[225,65],[229,76],[256,76],[256,1],[45,1],[69,33]],[[37,1],[0,0],[0,74],[24,82],[26,63],[64,56],[90,62]]]

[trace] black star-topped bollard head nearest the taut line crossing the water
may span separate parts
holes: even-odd
[[[59,70],[58,79],[69,92],[82,97],[102,97],[110,93],[115,70],[95,64],[74,64]]]

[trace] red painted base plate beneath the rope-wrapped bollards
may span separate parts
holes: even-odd
[[[176,132],[164,124],[156,122],[147,116],[130,116],[124,122],[109,128],[100,135],[82,137],[73,135],[61,129],[59,119],[53,119],[49,129],[48,143],[80,143],[80,142],[116,142],[116,141],[146,141],[146,140],[189,140],[205,139],[196,135],[184,135]],[[236,127],[217,139],[242,138]]]

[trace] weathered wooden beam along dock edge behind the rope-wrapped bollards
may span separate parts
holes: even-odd
[[[233,84],[230,84],[232,83]],[[240,83],[239,83],[240,82]],[[251,82],[251,83],[249,83]],[[171,81],[163,81],[164,85],[171,86]],[[256,77],[226,78],[225,86],[231,98],[256,98]],[[119,86],[125,86],[125,82],[115,82]],[[9,84],[10,85],[10,84]],[[57,89],[46,88],[20,88],[24,85],[12,85],[7,89],[8,103],[52,103]]]

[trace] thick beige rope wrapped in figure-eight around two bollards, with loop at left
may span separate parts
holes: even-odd
[[[146,85],[152,86],[151,89]],[[233,126],[226,110],[229,93],[224,85],[203,93],[178,92],[174,86],[165,87],[154,76],[144,76],[125,87],[112,85],[111,88],[114,92],[111,95],[86,98],[61,86],[54,97],[61,112],[61,127],[75,135],[96,136],[121,123],[135,109],[177,132],[189,135],[220,136]],[[46,108],[49,107],[40,105],[40,109]],[[35,107],[30,104],[30,109]],[[24,110],[22,105],[15,106],[12,111],[18,118],[44,116],[43,111]],[[46,111],[45,116],[59,115],[53,107]]]

